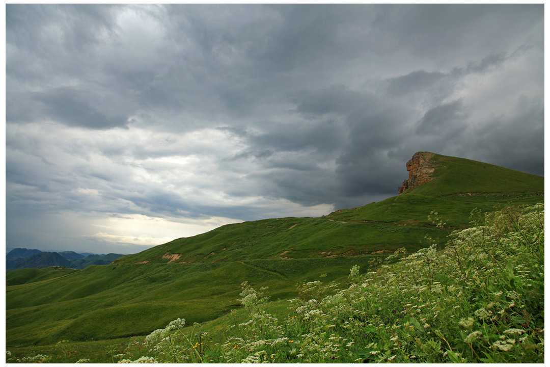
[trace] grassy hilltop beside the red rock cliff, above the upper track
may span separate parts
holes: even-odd
[[[541,201],[544,178],[464,158],[436,154],[435,177],[430,182],[373,204],[331,213],[328,218],[347,222],[382,221],[428,224],[432,210],[453,227],[467,225],[471,210],[493,211],[508,203]]]

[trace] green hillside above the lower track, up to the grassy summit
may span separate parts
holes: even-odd
[[[543,177],[428,152],[417,152],[415,156],[419,154],[429,156],[423,164],[434,168],[433,177],[392,198],[338,210],[322,218],[227,224],[125,256],[116,263],[303,259],[368,255],[400,247],[414,251],[426,234],[434,239],[445,234],[428,221],[434,209],[451,228],[458,228],[467,226],[475,208],[491,211],[508,202],[533,204],[541,200]]]

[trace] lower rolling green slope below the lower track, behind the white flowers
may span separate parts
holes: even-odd
[[[8,287],[7,345],[144,335],[177,317],[204,322],[237,306],[243,280],[270,287],[273,299],[288,298],[298,281],[322,273],[342,280],[373,257],[90,266],[55,282]]]

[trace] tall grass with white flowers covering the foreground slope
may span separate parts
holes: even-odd
[[[431,220],[445,228],[437,213]],[[117,360],[543,363],[543,205],[472,212],[471,226],[446,243],[395,251],[374,271],[354,266],[344,289],[323,277],[299,284],[286,315],[271,314],[266,289],[245,282],[246,320],[235,320],[224,342],[183,332],[179,319],[145,338],[146,356]]]

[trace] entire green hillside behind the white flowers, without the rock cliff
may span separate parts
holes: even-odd
[[[189,325],[215,320],[238,307],[245,280],[270,287],[272,300],[295,297],[296,283],[323,274],[345,284],[351,266],[376,269],[399,248],[429,247],[426,235],[443,248],[447,230],[469,226],[475,208],[543,199],[542,177],[437,154],[428,163],[431,180],[380,202],[320,218],[228,224],[110,265],[7,286],[7,345],[147,335],[178,317]],[[447,227],[428,221],[432,210]]]

